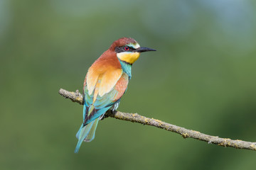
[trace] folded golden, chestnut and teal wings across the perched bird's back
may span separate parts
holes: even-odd
[[[110,72],[111,71],[111,72]],[[122,69],[110,70],[104,74],[94,75],[97,81],[87,74],[84,88],[84,125],[100,117],[121,98],[127,89],[129,77]],[[90,82],[90,81],[95,81]],[[94,87],[92,88],[92,84]]]

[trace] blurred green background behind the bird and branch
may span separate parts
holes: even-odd
[[[256,141],[256,3],[0,0],[0,169],[255,169],[256,153],[107,118],[74,154],[88,67],[118,38],[142,54],[119,111]]]

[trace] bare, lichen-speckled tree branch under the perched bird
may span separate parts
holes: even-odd
[[[64,89],[60,89],[59,94],[65,98],[70,98],[70,100],[73,102],[80,103],[81,105],[83,104],[82,95],[79,93],[78,90],[75,92],[70,92]],[[230,140],[229,138],[210,136],[195,130],[188,130],[186,128],[182,128],[176,125],[171,125],[169,123],[165,123],[161,120],[157,120],[154,118],[146,118],[137,113],[122,113],[119,111],[117,111],[117,113],[112,113],[111,111],[107,111],[105,116],[116,118],[119,120],[127,120],[134,123],[141,123],[143,125],[151,125],[156,128],[161,128],[171,132],[176,132],[184,138],[191,137],[196,140],[208,142],[208,144],[215,144],[222,147],[235,147],[237,149],[250,149],[250,150],[256,151],[256,142]]]

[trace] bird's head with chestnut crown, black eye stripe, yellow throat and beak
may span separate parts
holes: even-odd
[[[117,53],[119,60],[133,64],[138,60],[141,52],[156,51],[149,47],[140,47],[139,43],[132,38],[120,38],[112,43],[110,50]]]

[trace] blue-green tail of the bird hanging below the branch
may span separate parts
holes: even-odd
[[[76,137],[78,138],[78,144],[75,147],[75,153],[78,153],[80,146],[82,145],[82,141],[85,140],[85,142],[90,142],[94,139],[98,121],[99,118],[92,120],[92,122],[88,123],[84,127],[81,125],[78,133],[76,134]]]

